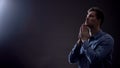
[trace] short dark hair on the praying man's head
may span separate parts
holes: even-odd
[[[98,7],[91,7],[88,10],[88,12],[91,12],[91,11],[95,11],[96,12],[96,17],[97,17],[97,19],[101,20],[100,26],[102,26],[103,21],[104,21],[104,13],[103,13],[103,11],[100,8],[98,8]]]

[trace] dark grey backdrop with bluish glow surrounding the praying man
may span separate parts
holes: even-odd
[[[4,1],[4,4],[2,4]],[[120,66],[119,2],[112,0],[1,0],[1,68],[77,68],[68,54],[87,10],[103,9],[103,31],[115,40],[113,68]]]

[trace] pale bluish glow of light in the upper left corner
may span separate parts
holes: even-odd
[[[10,39],[22,30],[28,17],[23,0],[0,0],[0,41]]]

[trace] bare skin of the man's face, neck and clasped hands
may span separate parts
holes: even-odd
[[[85,23],[80,27],[78,42],[82,41],[83,43],[88,40],[92,35],[100,31],[100,19],[97,19],[96,12],[90,11],[86,16]]]

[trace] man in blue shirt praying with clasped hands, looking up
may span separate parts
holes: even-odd
[[[114,40],[101,30],[104,14],[98,7],[92,7],[80,27],[78,41],[69,54],[70,63],[79,68],[110,68]]]

